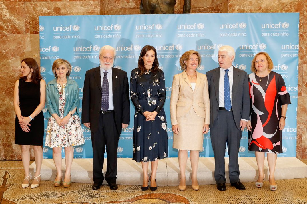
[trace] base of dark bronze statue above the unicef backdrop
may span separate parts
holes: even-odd
[[[141,14],[175,13],[176,0],[141,0]],[[191,0],[185,0],[182,13],[191,12]]]

